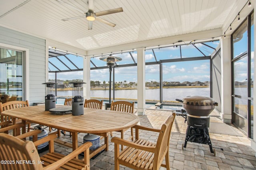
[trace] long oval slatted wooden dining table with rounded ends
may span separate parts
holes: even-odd
[[[68,107],[56,105],[56,107]],[[121,111],[84,108],[83,115],[72,115],[72,113],[57,114],[45,111],[45,106],[29,106],[10,109],[1,113],[17,119],[38,123],[40,125],[62,129],[72,133],[72,148],[78,148],[78,133],[92,133],[104,137],[104,145],[90,152],[90,158],[108,150],[108,133],[128,129],[139,122],[138,116]],[[14,121],[15,123],[15,121]],[[26,129],[22,129],[25,133]],[[65,142],[64,142],[65,143]],[[63,143],[63,144],[64,144]]]

